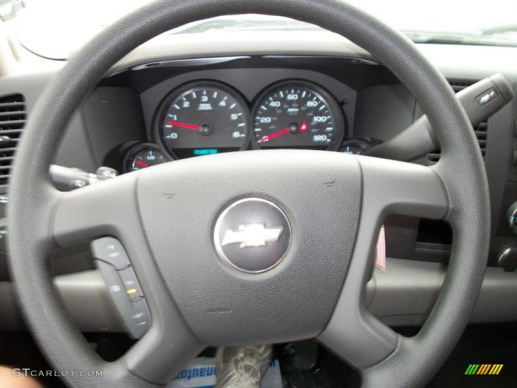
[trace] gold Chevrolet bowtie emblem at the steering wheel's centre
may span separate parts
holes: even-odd
[[[265,223],[240,225],[238,230],[227,230],[221,246],[240,244],[241,248],[265,247],[268,241],[278,241],[284,227],[266,228]]]

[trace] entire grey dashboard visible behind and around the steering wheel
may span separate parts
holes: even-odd
[[[264,148],[361,154],[398,135],[423,114],[388,68],[330,33],[160,39],[133,51],[105,75],[70,121],[56,165],[87,172],[106,166],[131,173],[214,153],[236,151],[246,158],[246,151]],[[457,90],[501,72],[517,91],[514,48],[420,44],[419,49]],[[62,65],[1,78],[0,98],[21,96],[30,116]],[[517,318],[515,273],[497,267],[501,249],[517,247],[517,235],[506,218],[517,200],[516,117],[514,100],[476,128],[489,178],[492,229],[487,231],[487,280],[474,322]],[[438,158],[439,150],[415,162],[431,165]],[[8,197],[5,192],[0,195]],[[3,203],[0,214],[5,214]],[[445,222],[396,215],[386,219],[385,230],[391,269],[375,271],[368,284],[369,308],[390,325],[420,324],[443,280],[453,233]],[[9,296],[7,254],[0,244],[0,289],[6,295],[0,311],[8,317],[0,326],[19,329],[21,318]],[[53,271],[83,331],[97,331],[99,324],[116,331],[119,325],[113,317],[95,309],[102,305],[105,310],[106,301],[99,299],[104,286],[87,246],[56,253]],[[79,283],[89,285],[89,292],[79,292]],[[81,307],[85,305],[95,314],[86,315]]]

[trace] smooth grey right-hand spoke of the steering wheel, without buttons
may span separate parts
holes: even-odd
[[[365,303],[379,228],[390,214],[444,218],[449,202],[444,183],[432,168],[364,156],[357,158],[363,193],[356,245],[336,309],[319,339],[362,369],[384,360],[400,339],[370,314]]]

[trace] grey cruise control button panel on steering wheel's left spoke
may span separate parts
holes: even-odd
[[[95,264],[99,268],[109,295],[121,321],[133,338],[142,337],[149,327],[150,312],[142,288],[131,267],[122,244],[113,237],[103,237],[90,244]],[[105,260],[108,253],[112,262]],[[120,269],[121,268],[121,269]]]

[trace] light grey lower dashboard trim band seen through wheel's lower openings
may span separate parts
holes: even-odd
[[[447,272],[439,263],[386,259],[387,271],[375,267],[367,284],[366,305],[389,326],[421,325],[431,312]],[[98,270],[58,275],[54,285],[82,332],[124,332]],[[26,330],[10,281],[0,281],[0,330]],[[470,323],[517,320],[517,273],[486,270]],[[104,330],[103,328],[106,328]],[[101,330],[102,329],[102,330]]]

